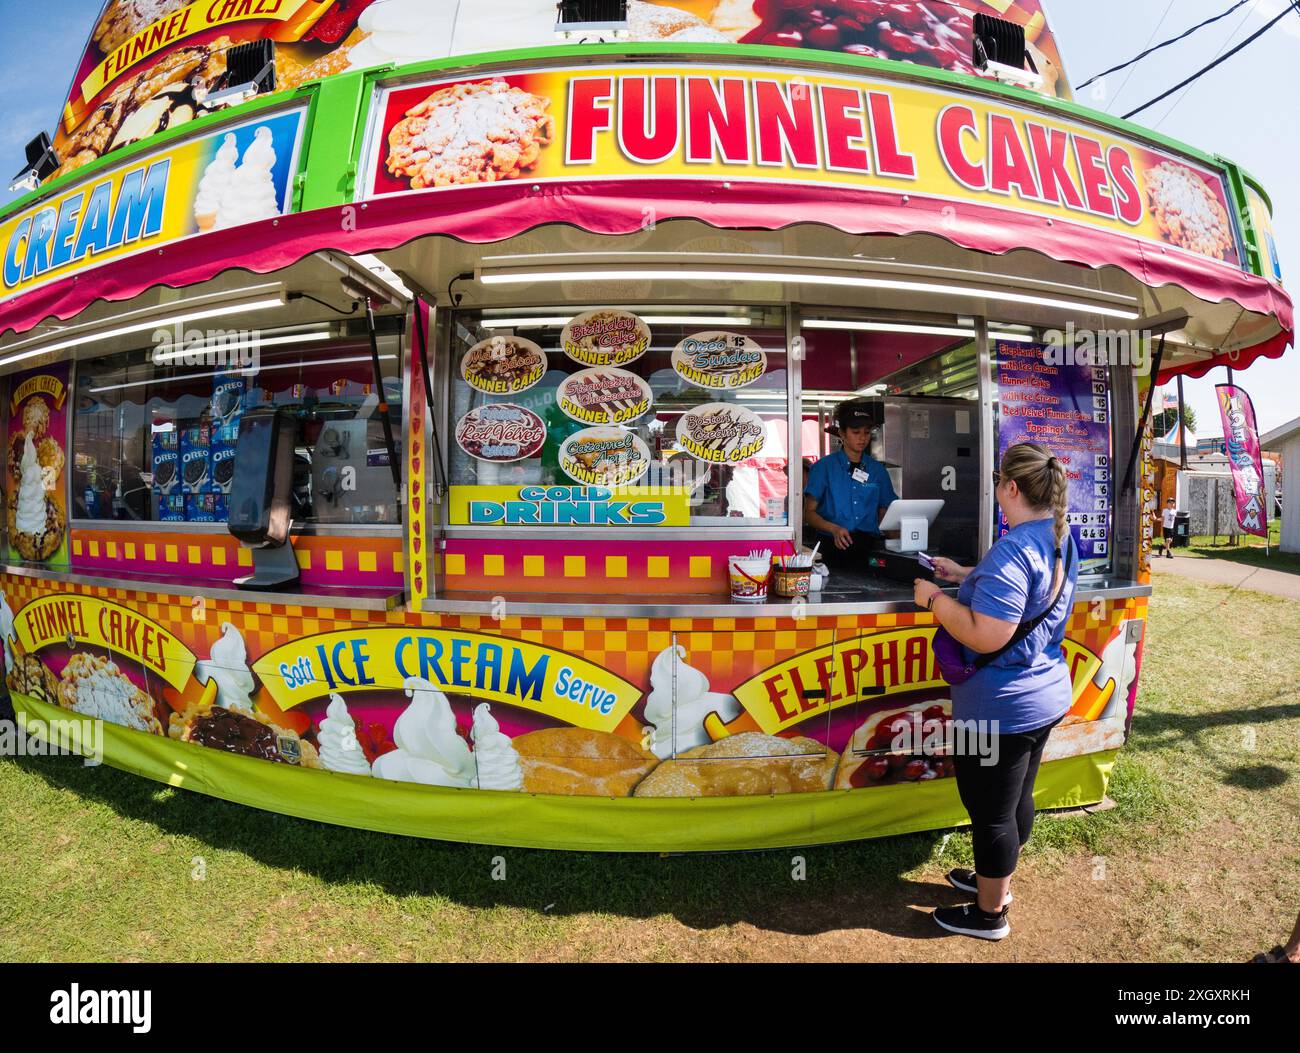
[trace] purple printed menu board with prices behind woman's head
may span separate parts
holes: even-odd
[[[1079,572],[1110,567],[1110,407],[1106,365],[1072,348],[997,343],[997,460],[1018,442],[1039,442],[1065,463],[1070,529]],[[997,534],[1008,532],[1001,510]]]

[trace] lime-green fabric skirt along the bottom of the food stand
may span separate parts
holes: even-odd
[[[13,693],[18,719],[94,723]],[[953,779],[772,797],[559,797],[443,789],[303,771],[101,723],[104,760],[179,789],[381,833],[581,852],[725,852],[836,844],[965,826]],[[1114,750],[1046,763],[1040,809],[1101,801]],[[328,780],[328,781],[325,781]]]

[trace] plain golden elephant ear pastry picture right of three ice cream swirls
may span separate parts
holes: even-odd
[[[525,793],[627,797],[659,763],[649,750],[608,732],[543,728],[514,740]]]

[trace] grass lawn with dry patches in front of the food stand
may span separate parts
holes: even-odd
[[[1300,910],[1297,624],[1295,601],[1160,581],[1117,807],[1040,818],[997,945],[940,937],[923,913],[959,902],[941,881],[971,862],[965,832],[671,858],[495,850],[21,758],[0,760],[0,958],[1248,958]]]

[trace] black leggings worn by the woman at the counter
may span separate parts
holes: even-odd
[[[1048,734],[1058,722],[1020,734],[997,736],[997,763],[988,767],[975,754],[953,758],[957,793],[971,816],[975,872],[1010,878],[1020,849],[1034,829],[1034,780]]]

